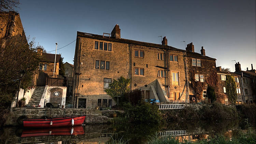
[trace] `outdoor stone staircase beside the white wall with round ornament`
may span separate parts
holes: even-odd
[[[37,86],[33,92],[33,95],[31,96],[28,104],[29,105],[39,105],[40,100],[42,98],[43,92],[44,92],[45,86]]]

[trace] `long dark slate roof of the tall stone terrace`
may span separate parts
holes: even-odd
[[[140,41],[134,41],[134,40],[128,40],[128,39],[122,39],[122,38],[117,39],[117,38],[106,37],[106,36],[103,37],[103,35],[85,33],[85,32],[80,32],[80,31],[77,31],[77,36],[78,37],[84,37],[84,38],[97,39],[97,40],[112,41],[112,42],[119,42],[119,43],[126,43],[126,44],[136,44],[136,45],[142,45],[142,46],[148,46],[148,47],[155,47],[155,48],[161,48],[161,49],[170,49],[170,50],[186,52],[186,50],[184,50],[184,49],[179,49],[179,48],[175,48],[175,47],[168,46],[168,45],[140,42]],[[215,58],[211,58],[211,57],[208,57],[208,56],[202,56],[199,53],[193,53],[193,52],[187,52],[187,56],[196,57],[196,58],[210,59],[210,60],[216,60]]]

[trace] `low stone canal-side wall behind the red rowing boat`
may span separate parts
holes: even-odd
[[[30,108],[12,107],[5,125],[18,126],[19,117],[27,118],[57,118],[86,115],[86,124],[105,124],[115,111],[99,111],[96,109],[61,109],[61,108]]]

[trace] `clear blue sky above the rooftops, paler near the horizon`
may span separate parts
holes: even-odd
[[[185,49],[193,42],[200,53],[216,58],[216,65],[234,71],[256,68],[255,0],[175,1],[70,1],[20,0],[18,12],[26,36],[35,38],[46,51],[76,39],[76,32],[110,33],[118,24],[121,38],[161,43]],[[64,62],[73,63],[75,42],[57,51]],[[55,53],[55,52],[52,52]]]

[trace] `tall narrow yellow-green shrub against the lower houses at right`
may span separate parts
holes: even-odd
[[[237,85],[233,75],[227,75],[226,77],[226,92],[228,101],[231,104],[236,104],[237,101]]]

